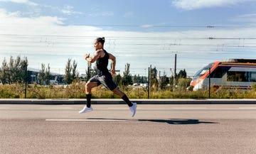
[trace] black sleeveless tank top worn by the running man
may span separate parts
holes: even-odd
[[[108,55],[106,50],[103,49],[103,51],[105,53],[104,57],[99,57],[96,62],[98,75],[104,75],[105,73],[109,72],[107,70],[107,65],[108,65],[108,60],[110,56]]]

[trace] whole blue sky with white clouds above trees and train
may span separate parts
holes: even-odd
[[[71,58],[84,74],[83,55],[105,36],[121,72],[128,62],[132,75],[152,65],[170,76],[177,54],[177,71],[193,75],[216,60],[256,58],[255,8],[254,0],[0,0],[0,62],[21,55],[28,67],[63,73]]]

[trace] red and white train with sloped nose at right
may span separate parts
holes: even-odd
[[[190,88],[194,91],[208,89],[209,76],[213,89],[252,89],[252,84],[256,84],[256,60],[229,59],[210,63],[196,72]]]

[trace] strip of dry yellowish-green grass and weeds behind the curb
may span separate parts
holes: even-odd
[[[122,92],[130,99],[147,99],[148,92],[144,88],[120,87]],[[25,98],[25,84],[0,84],[0,98]],[[73,83],[68,87],[44,86],[29,84],[26,88],[26,98],[28,99],[85,99],[85,83]],[[119,98],[110,90],[102,86],[92,89],[92,98],[95,99],[116,99]],[[251,91],[240,91],[234,89],[220,89],[210,93],[211,99],[256,99],[256,86],[252,86]],[[183,89],[171,90],[151,90],[150,99],[208,99],[208,91],[191,92]]]

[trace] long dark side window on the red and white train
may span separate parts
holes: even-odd
[[[249,77],[247,72],[227,72],[227,81],[228,82],[249,82]]]

